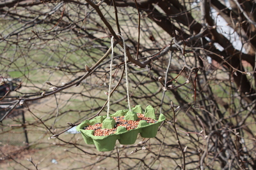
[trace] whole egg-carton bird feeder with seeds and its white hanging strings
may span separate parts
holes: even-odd
[[[111,39],[111,43],[112,55],[110,63],[110,75],[112,75],[111,70],[113,63],[113,38]],[[116,113],[109,115],[110,95],[108,95],[107,115],[98,116],[93,118],[92,120],[84,120],[84,122],[76,127],[76,130],[78,132],[81,132],[84,142],[88,145],[95,145],[97,150],[100,152],[107,152],[113,150],[115,148],[116,140],[118,140],[119,143],[122,145],[132,145],[135,143],[139,133],[142,138],[154,138],[156,137],[159,125],[161,125],[161,122],[165,120],[165,117],[162,113],[159,115],[159,119],[156,120],[155,111],[152,106],[147,106],[144,113],[140,105],[131,108],[129,102],[129,82],[127,76],[127,59],[125,52],[124,55],[125,74],[127,81],[127,101],[129,109],[118,110],[116,111]],[[110,94],[110,90],[111,76],[109,78],[108,94]]]

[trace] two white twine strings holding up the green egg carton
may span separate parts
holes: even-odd
[[[127,71],[127,55],[125,50],[125,41],[124,38],[119,35],[120,38],[123,40],[124,44],[124,62],[125,62],[125,79],[126,79],[126,90],[127,90],[127,101],[128,101],[128,107],[129,111],[131,111],[131,104],[130,104],[130,97],[129,97],[129,81],[128,81],[128,71]],[[111,61],[110,61],[110,78],[109,78],[109,89],[108,89],[108,111],[107,111],[107,117],[109,118],[109,108],[110,108],[110,92],[111,92],[111,81],[112,81],[112,65],[113,65],[113,57],[114,57],[114,37],[111,38]]]

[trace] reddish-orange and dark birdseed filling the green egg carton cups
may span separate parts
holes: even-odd
[[[124,116],[113,117],[116,122],[115,128],[113,129],[102,129],[102,124],[97,123],[94,125],[84,127],[84,130],[94,130],[94,136],[108,136],[109,134],[115,134],[116,128],[118,126],[124,126],[127,129],[127,131],[130,131],[131,129],[135,129],[136,127],[138,127],[140,120],[146,120],[149,124],[157,122],[157,120],[154,120],[152,118],[144,117],[144,115],[141,113],[137,113],[137,116],[138,120],[124,120]]]

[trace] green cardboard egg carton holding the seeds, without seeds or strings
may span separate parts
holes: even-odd
[[[113,125],[115,125],[115,120],[111,117],[124,116],[125,120],[137,120],[138,117],[136,113],[143,113],[140,105],[132,108],[132,111],[118,110],[116,113],[109,115],[110,118],[107,118],[106,116],[99,116],[93,118],[92,120],[84,120],[84,122],[76,127],[76,130],[81,132],[86,144],[95,145],[97,150],[100,152],[113,150],[115,148],[116,140],[118,140],[122,145],[132,145],[135,143],[139,133],[143,138],[156,137],[159,125],[165,120],[163,114],[159,115],[159,119],[156,123],[148,124],[147,121],[141,120],[138,127],[136,127],[136,129],[131,129],[130,131],[127,131],[127,129],[123,126],[118,126],[116,128],[116,133],[109,134],[109,136],[94,136],[94,130],[84,130],[84,127],[97,123],[102,124],[102,128],[104,129],[112,129]],[[155,111],[152,106],[147,106],[144,115],[145,117],[156,120]]]

